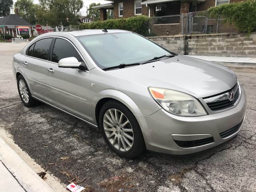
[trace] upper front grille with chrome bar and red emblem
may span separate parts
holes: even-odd
[[[233,100],[228,98],[228,97],[231,97],[231,93],[234,96]],[[234,104],[236,103],[238,98],[239,98],[239,85],[238,85],[238,83],[236,83],[236,85],[231,90],[228,90],[227,92],[218,94],[216,96],[204,98],[204,100],[206,101],[206,104],[208,105],[208,107],[211,110],[217,111],[217,110],[222,110],[222,109],[226,109],[226,108],[234,106]],[[209,102],[209,100],[211,100],[211,99],[213,101]]]

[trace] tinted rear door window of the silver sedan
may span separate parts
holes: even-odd
[[[33,57],[48,60],[52,38],[45,38],[36,42],[33,50]]]

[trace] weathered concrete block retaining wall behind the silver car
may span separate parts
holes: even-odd
[[[150,37],[178,54],[203,56],[256,57],[256,33],[175,35]]]

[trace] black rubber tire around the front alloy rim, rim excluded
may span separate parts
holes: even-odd
[[[130,150],[128,150],[127,152],[121,152],[118,149],[116,149],[114,146],[112,146],[112,144],[110,143],[110,141],[108,140],[108,138],[107,138],[107,136],[106,136],[106,134],[104,132],[103,117],[104,117],[105,112],[107,110],[111,109],[111,108],[115,108],[115,109],[118,109],[121,112],[123,112],[124,115],[130,121],[130,124],[132,125],[132,129],[133,129],[133,133],[134,133],[134,143],[133,143],[132,148]],[[104,139],[105,139],[106,143],[108,144],[108,146],[116,154],[118,154],[121,157],[124,157],[124,158],[135,158],[136,156],[142,154],[144,152],[144,150],[146,149],[144,138],[143,138],[142,132],[140,130],[140,126],[139,126],[136,118],[134,117],[132,112],[126,106],[124,106],[120,102],[109,101],[109,102],[106,102],[102,106],[102,108],[100,109],[100,114],[99,114],[99,126],[100,126],[100,131],[102,133],[102,136],[104,137]]]

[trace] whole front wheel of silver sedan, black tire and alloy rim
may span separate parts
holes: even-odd
[[[100,110],[99,126],[106,143],[119,156],[134,158],[144,152],[145,143],[140,126],[123,104],[106,102]]]

